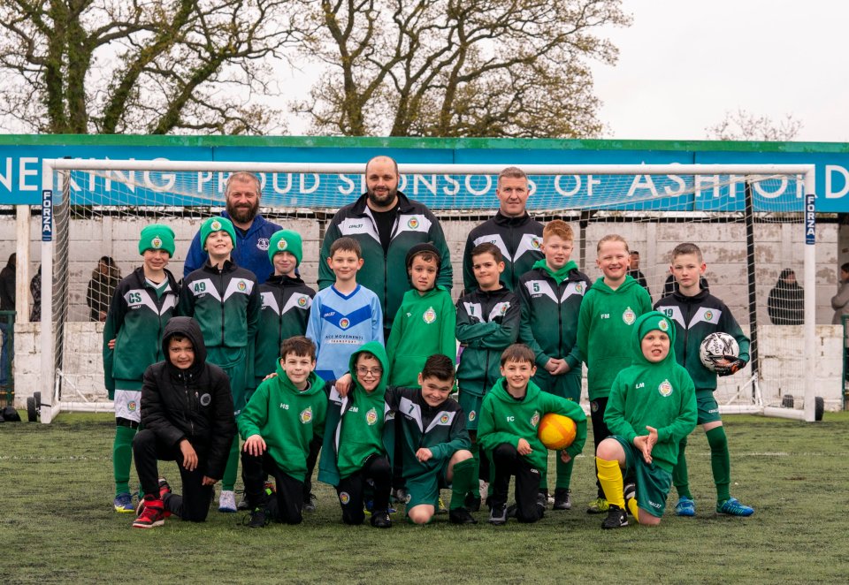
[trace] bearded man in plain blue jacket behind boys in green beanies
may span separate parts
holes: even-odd
[[[259,200],[263,189],[252,172],[234,172],[227,179],[225,187],[226,211],[221,217],[233,222],[236,228],[235,248],[231,253],[233,262],[256,275],[256,282],[262,284],[274,270],[268,259],[268,241],[272,234],[281,230],[278,224],[266,220],[259,211]],[[183,265],[183,277],[203,266],[209,255],[201,246],[200,232],[195,233],[192,246],[188,248],[186,263]]]

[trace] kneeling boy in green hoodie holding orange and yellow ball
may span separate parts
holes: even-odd
[[[546,503],[539,492],[540,479],[547,475],[548,450],[538,436],[539,421],[547,413],[568,416],[577,427],[575,440],[560,453],[568,463],[584,450],[586,416],[581,407],[567,399],[539,390],[536,356],[524,344],[513,344],[501,353],[501,378],[486,394],[480,407],[478,443],[494,469],[489,522],[507,522],[507,493],[510,476],[516,475],[516,520],[536,522]]]

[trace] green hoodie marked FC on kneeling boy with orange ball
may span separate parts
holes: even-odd
[[[575,422],[575,441],[566,448],[572,458],[584,451],[586,442],[586,415],[576,402],[562,399],[554,394],[539,390],[533,381],[528,383],[524,399],[516,400],[505,387],[504,378],[495,383],[484,397],[478,419],[478,444],[492,453],[502,443],[518,446],[524,438],[532,452],[523,455],[532,467],[539,469],[545,477],[548,468],[548,450],[537,435],[539,420],[547,413],[563,414]]]

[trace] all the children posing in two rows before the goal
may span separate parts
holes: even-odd
[[[136,450],[137,458],[148,458],[137,460],[136,467],[155,469],[158,458],[177,460],[186,469],[200,462],[223,469],[221,477],[191,477],[203,486],[222,480],[219,510],[235,512],[241,453],[251,528],[302,521],[302,512],[314,505],[310,479],[319,448],[318,479],[336,489],[347,524],[360,524],[369,513],[372,526],[392,526],[392,490],[406,495],[406,517],[416,524],[440,511],[440,489],[451,490],[448,518],[458,524],[477,523],[472,513],[481,496],[493,525],[509,517],[539,520],[548,505],[568,510],[572,468],[587,432],[580,407],[583,364],[599,488],[587,511],[608,513],[603,528],[627,525],[629,512],[641,524],[656,524],[673,482],[680,497],[677,514],[694,515],[684,447],[697,422],[711,446],[717,513],[750,515],[753,509],[728,492],[728,446],[713,399],[716,374],[746,365],[748,340],[728,308],[700,289],[705,264],[699,248],[686,244],[673,252],[670,269],[678,289],[653,311],[648,293],[627,276],[629,249],[622,237],[600,239],[596,263],[603,276],[594,283],[570,260],[573,240],[569,224],[549,222],[542,233],[543,259],[519,277],[514,291],[501,280],[499,247],[478,244],[470,253],[477,287],[456,304],[436,284],[440,250],[432,244],[410,247],[410,289],[384,346],[379,301],[357,284],[363,258],[355,239],[334,242],[328,265],[336,281],[316,294],[297,275],[302,260],[297,233],[273,235],[274,275],[258,284],[230,259],[233,225],[212,217],[201,228],[209,262],[189,274],[178,292],[164,270],[174,251],[173,232],[158,224],[144,228],[142,268],[119,285],[104,331],[107,388],[114,393],[118,425],[116,510],[134,510],[128,453],[135,429],[145,425],[146,406],[164,401],[163,392],[180,392],[180,384],[164,389],[144,375],[144,366],[164,360],[173,380],[184,383],[185,396],[173,401],[180,406],[171,414],[163,417],[160,409],[157,425],[167,426],[171,416],[168,436],[180,438],[176,445],[159,445],[159,452]],[[198,417],[215,434],[216,425],[233,419],[212,420],[210,412],[220,414],[215,396],[189,391],[194,370],[191,362],[186,365],[185,351],[177,351],[185,350],[180,343],[186,337],[161,339],[172,315],[195,319],[203,337],[195,356],[205,355],[214,375],[218,369],[226,374],[241,449],[239,437],[233,437],[228,452],[218,449],[212,457],[190,433],[174,430]],[[737,338],[740,353],[711,372],[701,365],[698,349],[714,330]],[[139,355],[143,363],[131,358]],[[458,399],[451,399],[457,387]],[[548,453],[537,437],[547,413],[564,414],[577,425],[574,442],[557,453],[552,498]],[[184,443],[191,444],[194,459],[186,458]],[[509,506],[512,476],[516,503]],[[161,525],[169,513],[163,501],[174,499],[164,480],[158,492],[148,490],[137,528]],[[184,491],[183,500],[190,490],[184,485]],[[211,498],[211,490],[191,493]]]

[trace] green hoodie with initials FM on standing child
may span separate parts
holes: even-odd
[[[631,365],[631,327],[650,310],[646,289],[627,276],[615,291],[599,278],[585,294],[577,319],[577,348],[586,362],[590,400],[607,398],[616,375]]]

